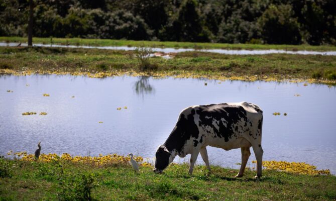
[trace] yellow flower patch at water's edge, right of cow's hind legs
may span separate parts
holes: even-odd
[[[257,161],[252,161],[252,163],[256,163]],[[275,169],[275,170],[282,170],[286,172],[293,172],[293,173],[299,173],[299,174],[311,174],[311,175],[317,175],[317,174],[323,174],[323,175],[329,175],[330,170],[317,170],[316,166],[307,164],[305,162],[287,162],[287,161],[263,161],[263,166],[266,167],[266,169]]]

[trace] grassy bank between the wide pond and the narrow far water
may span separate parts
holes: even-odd
[[[91,77],[120,74],[284,80],[336,83],[336,56],[223,55],[183,52],[172,59],[151,57],[145,70],[133,51],[82,48],[0,47],[0,73],[70,73]]]

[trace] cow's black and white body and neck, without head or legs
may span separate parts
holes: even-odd
[[[231,149],[241,138],[261,138],[262,110],[246,102],[191,106],[184,109],[165,145],[184,157],[193,147]]]

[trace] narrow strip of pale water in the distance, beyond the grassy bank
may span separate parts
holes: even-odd
[[[18,46],[19,43],[4,43],[0,42],[0,46]],[[27,46],[27,43],[20,44],[21,46]],[[97,49],[107,49],[107,50],[134,50],[136,47],[128,46],[75,46],[75,45],[50,45],[50,44],[39,44],[35,43],[36,47],[63,47],[63,48],[97,48]],[[260,54],[304,54],[304,55],[336,55],[336,51],[289,51],[289,50],[229,50],[229,49],[192,49],[192,48],[153,48],[154,52],[163,52],[163,53],[179,53],[187,51],[199,51],[199,52],[212,52],[219,54],[229,54],[229,55],[260,55]],[[168,57],[169,58],[169,57]]]

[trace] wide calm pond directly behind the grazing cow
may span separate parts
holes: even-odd
[[[42,153],[133,152],[153,158],[182,109],[242,101],[264,111],[264,160],[307,162],[336,173],[336,88],[302,82],[3,75],[0,154],[10,150],[34,153],[41,141]],[[25,112],[37,115],[23,116]],[[272,115],[275,112],[281,115]],[[248,165],[253,166],[251,152]],[[208,154],[211,164],[239,168],[239,149],[209,147]],[[189,156],[175,161],[187,161]],[[197,162],[203,161],[199,157]]]

